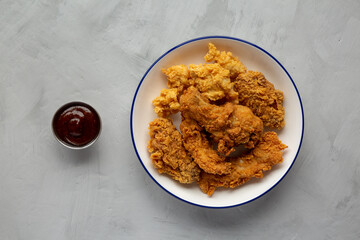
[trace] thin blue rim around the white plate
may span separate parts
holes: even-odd
[[[196,204],[196,203],[193,203],[193,202],[190,202],[188,200],[185,200],[185,199],[182,199],[181,197],[179,196],[176,196],[175,194],[173,194],[172,192],[170,192],[169,190],[167,190],[165,187],[163,187],[160,183],[158,183],[158,181],[156,181],[156,179],[149,173],[149,171],[147,170],[147,168],[145,167],[143,161],[141,160],[140,156],[139,156],[139,153],[137,151],[137,147],[136,147],[136,144],[135,144],[135,139],[134,139],[134,134],[133,134],[133,110],[134,110],[134,104],[135,104],[135,101],[136,101],[136,97],[137,97],[137,94],[138,94],[138,91],[141,87],[141,84],[142,82],[144,81],[144,79],[146,78],[146,76],[148,75],[148,73],[150,72],[150,70],[163,58],[165,57],[166,55],[168,55],[170,52],[174,51],[175,49],[183,46],[183,45],[186,45],[188,43],[191,43],[191,42],[196,42],[196,41],[199,41],[199,40],[204,40],[204,39],[228,39],[228,40],[235,40],[235,41],[239,41],[239,42],[242,42],[242,43],[245,43],[245,44],[248,44],[250,46],[253,46],[259,50],[261,50],[262,52],[266,53],[269,57],[271,57],[277,64],[279,64],[279,66],[284,70],[284,72],[286,73],[286,75],[289,77],[289,79],[291,80],[291,83],[293,84],[295,90],[296,90],[296,93],[297,93],[297,96],[299,98],[299,102],[300,102],[300,107],[301,107],[301,115],[302,115],[302,130],[301,130],[301,138],[300,138],[300,144],[299,144],[299,148],[296,152],[296,155],[295,155],[295,158],[294,160],[292,161],[290,167],[288,168],[288,170],[285,172],[285,174],[279,179],[279,181],[277,181],[271,188],[269,188],[268,190],[266,190],[265,192],[263,192],[262,194],[260,194],[259,196],[256,196],[255,198],[253,199],[250,199],[246,202],[242,202],[242,203],[239,203],[239,204],[235,204],[235,205],[230,205],[230,206],[220,206],[220,207],[215,207],[215,206],[206,206],[206,205],[201,205],[201,204]],[[191,205],[195,205],[195,206],[198,206],[198,207],[204,207],[204,208],[214,208],[214,209],[222,209],[222,208],[232,208],[232,207],[238,207],[238,206],[241,206],[241,205],[244,205],[244,204],[247,204],[249,202],[252,202],[262,196],[264,196],[266,193],[268,193],[269,191],[271,191],[275,186],[277,186],[281,180],[284,179],[284,177],[287,175],[287,173],[290,171],[290,169],[292,168],[292,166],[294,165],[295,163],[295,160],[300,152],[300,148],[301,148],[301,145],[302,145],[302,140],[303,140],[303,136],[304,136],[304,110],[303,110],[303,105],[302,105],[302,101],[301,101],[301,97],[300,97],[300,94],[299,94],[299,91],[292,79],[292,77],[290,76],[290,74],[288,73],[288,71],[285,69],[285,67],[273,56],[271,55],[269,52],[267,52],[265,49],[251,43],[251,42],[248,42],[248,41],[245,41],[245,40],[242,40],[240,38],[235,38],[235,37],[228,37],[228,36],[205,36],[205,37],[199,37],[199,38],[194,38],[194,39],[191,39],[191,40],[188,40],[186,42],[183,42],[183,43],[180,43],[178,45],[176,45],[175,47],[171,48],[170,50],[168,50],[167,52],[165,52],[163,55],[161,55],[153,64],[151,64],[151,66],[149,67],[149,69],[145,72],[144,76],[141,78],[141,81],[138,85],[138,87],[136,88],[136,91],[135,91],[135,95],[134,95],[134,99],[132,101],[132,104],[131,104],[131,113],[130,113],[130,131],[131,131],[131,139],[132,139],[132,143],[134,145],[134,149],[135,149],[135,152],[136,152],[136,155],[141,163],[141,165],[143,166],[143,168],[145,169],[145,171],[147,172],[147,174],[151,177],[151,179],[158,185],[160,186],[163,190],[165,190],[165,192],[169,193],[170,195],[172,195],[173,197],[183,201],[183,202],[186,202],[186,203],[189,203]]]

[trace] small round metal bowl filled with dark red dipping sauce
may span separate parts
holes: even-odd
[[[70,102],[55,112],[52,130],[55,138],[65,147],[84,149],[99,138],[101,119],[89,104]]]

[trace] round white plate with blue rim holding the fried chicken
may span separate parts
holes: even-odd
[[[288,145],[284,161],[264,178],[255,179],[235,189],[218,188],[211,197],[201,192],[197,184],[180,184],[166,175],[160,175],[154,168],[147,149],[150,140],[149,123],[157,116],[152,100],[166,88],[166,76],[161,72],[177,64],[205,63],[208,43],[212,42],[221,51],[230,51],[244,63],[248,70],[262,72],[284,92],[285,128],[279,131],[280,140]],[[271,190],[287,174],[300,150],[304,132],[304,115],[300,95],[286,69],[270,53],[247,41],[224,36],[209,36],[193,39],[177,45],[157,59],[146,71],[136,90],[131,108],[131,135],[136,154],[150,177],[165,191],[185,202],[211,208],[225,208],[252,201]]]

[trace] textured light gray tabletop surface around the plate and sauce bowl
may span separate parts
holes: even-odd
[[[359,239],[359,1],[0,0],[0,239]],[[183,203],[132,147],[133,94],[169,48],[242,38],[288,69],[305,111],[285,179],[231,209]],[[83,100],[103,118],[92,148],[50,131]]]

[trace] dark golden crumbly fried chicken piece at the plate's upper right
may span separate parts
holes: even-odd
[[[239,93],[239,103],[261,118],[265,127],[281,129],[285,126],[284,94],[276,90],[261,72],[240,74],[235,89]]]

